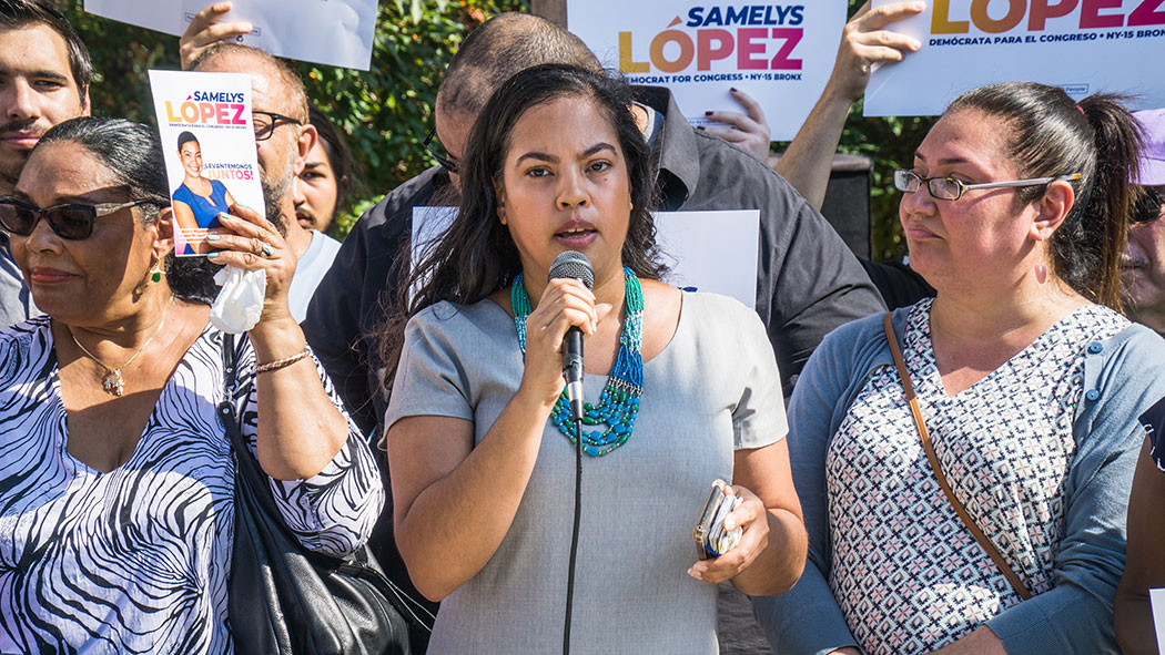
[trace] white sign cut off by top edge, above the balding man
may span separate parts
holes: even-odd
[[[224,21],[248,21],[240,42],[277,57],[368,70],[376,0],[232,0]],[[175,36],[212,0],[85,0],[85,10]]]

